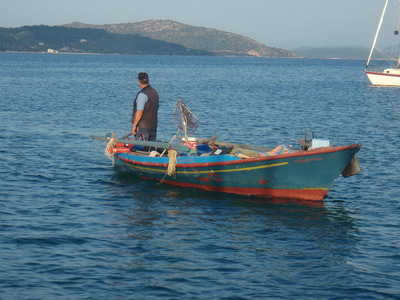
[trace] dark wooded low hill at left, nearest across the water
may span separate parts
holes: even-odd
[[[211,55],[139,35],[115,34],[102,29],[60,26],[0,28],[0,51],[152,55]]]

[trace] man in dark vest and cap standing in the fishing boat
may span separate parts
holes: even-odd
[[[133,102],[132,131],[137,140],[154,141],[157,136],[158,93],[145,72],[138,74],[140,92]]]

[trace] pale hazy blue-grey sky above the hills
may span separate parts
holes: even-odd
[[[384,3],[385,0],[0,0],[0,27],[171,19],[242,34],[285,49],[370,47]],[[387,19],[396,14],[389,7]],[[395,28],[388,29],[392,33]],[[387,43],[390,45],[390,41]]]

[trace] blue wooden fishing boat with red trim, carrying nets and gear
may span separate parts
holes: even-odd
[[[92,138],[107,142],[105,154],[114,166],[135,176],[205,191],[321,201],[340,174],[360,172],[360,144],[332,146],[328,140],[308,140],[306,132],[298,140],[299,149],[222,142],[215,134],[197,138],[188,130],[197,128],[197,118],[181,100],[177,111],[180,125],[169,142],[116,138],[112,133]]]

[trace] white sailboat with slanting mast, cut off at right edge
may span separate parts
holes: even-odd
[[[374,41],[372,43],[371,51],[369,53],[369,57],[366,64],[365,73],[368,76],[368,79],[371,81],[373,85],[376,86],[400,86],[400,56],[397,58],[397,65],[392,68],[373,70],[368,69],[369,63],[371,61],[372,53],[374,52],[376,41],[378,39],[378,35],[382,26],[382,22],[386,13],[386,8],[389,0],[386,0],[385,5],[383,7],[382,15],[379,20],[378,29],[375,33]],[[399,34],[398,30],[394,31],[395,35]]]

